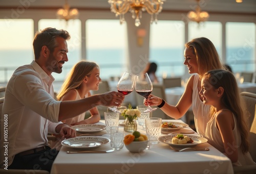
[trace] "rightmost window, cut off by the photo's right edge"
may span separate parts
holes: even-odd
[[[255,71],[255,24],[226,23],[226,60],[233,72]]]

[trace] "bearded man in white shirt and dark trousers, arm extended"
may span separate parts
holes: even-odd
[[[37,32],[33,41],[35,60],[17,68],[8,82],[1,116],[2,168],[50,172],[58,152],[47,146],[47,134],[60,134],[63,139],[76,136],[75,131],[60,120],[98,105],[120,106],[122,103],[124,95],[114,91],[79,101],[54,100],[51,73],[61,73],[62,65],[68,61],[68,39],[70,35],[65,30],[46,28]],[[8,128],[5,132],[4,127]]]

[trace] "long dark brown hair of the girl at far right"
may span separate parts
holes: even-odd
[[[230,71],[223,69],[210,70],[203,76],[215,89],[224,88],[221,98],[221,105],[229,109],[237,118],[237,128],[241,134],[241,150],[243,153],[249,150],[248,127],[246,109],[239,93],[236,78]],[[215,114],[214,107],[211,106],[210,114]]]

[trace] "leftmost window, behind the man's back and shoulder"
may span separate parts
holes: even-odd
[[[0,19],[0,83],[9,81],[14,70],[34,59],[32,19]]]

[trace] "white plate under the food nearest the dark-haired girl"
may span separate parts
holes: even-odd
[[[185,147],[193,147],[196,146],[198,144],[202,144],[207,142],[208,140],[206,138],[203,137],[199,137],[199,136],[194,136],[194,135],[186,135],[189,138],[193,139],[193,143],[186,143],[186,144],[174,144],[172,142],[173,137],[175,137],[176,135],[164,135],[158,138],[158,140],[160,142],[163,142],[165,144],[169,144],[170,146],[173,147],[180,147],[180,148],[185,148]]]

